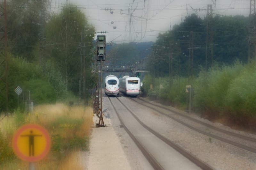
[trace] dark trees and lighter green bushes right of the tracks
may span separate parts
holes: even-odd
[[[208,17],[191,14],[158,35],[145,64],[149,74],[143,92],[188,110],[185,87],[191,85],[192,111],[255,132],[256,73],[255,61],[248,57],[249,18],[213,15],[207,39]]]

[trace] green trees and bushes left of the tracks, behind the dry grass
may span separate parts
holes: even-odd
[[[90,100],[89,89],[96,82],[96,75],[92,74],[94,27],[73,4],[65,4],[52,17],[46,15],[50,5],[47,0],[8,2],[9,112],[17,107],[24,110],[29,98],[36,104],[65,101],[74,96],[76,100]],[[1,55],[1,63],[4,60]],[[86,81],[81,80],[80,69]],[[1,76],[4,71],[1,67]],[[84,87],[80,91],[79,85]],[[23,91],[19,97],[14,92],[17,86]],[[0,82],[0,88],[5,94],[5,81]],[[0,103],[5,100],[6,96],[0,95]],[[2,111],[5,107],[0,107]]]

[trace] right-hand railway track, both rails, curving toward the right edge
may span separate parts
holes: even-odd
[[[247,150],[247,151],[249,151],[249,152],[256,153],[256,148],[253,147],[253,146],[248,146],[247,142],[244,142],[244,143],[246,143],[246,144],[242,144],[242,143],[238,143],[238,142],[235,142],[235,141],[233,141],[233,140],[228,139],[228,137],[231,136],[231,137],[234,137],[234,138],[243,139],[244,141],[249,141],[252,145],[255,145],[255,144],[256,144],[256,139],[255,139],[255,138],[252,138],[252,137],[249,137],[249,136],[244,136],[244,135],[241,135],[241,134],[238,134],[238,133],[234,133],[234,132],[231,132],[231,131],[227,131],[227,130],[224,130],[224,129],[220,129],[220,128],[215,127],[215,126],[212,126],[212,125],[210,125],[210,124],[208,124],[208,123],[205,123],[205,122],[199,121],[199,120],[197,120],[197,119],[194,119],[194,118],[192,118],[192,117],[190,117],[190,116],[188,116],[188,115],[184,115],[184,114],[181,114],[181,113],[179,113],[179,112],[177,112],[177,111],[171,110],[170,108],[163,107],[163,106],[159,106],[159,105],[156,105],[156,104],[152,104],[152,103],[150,103],[150,102],[148,102],[148,101],[145,101],[145,100],[142,100],[142,99],[140,99],[140,98],[137,98],[137,99],[140,100],[140,101],[142,101],[142,102],[144,102],[144,103],[141,103],[141,102],[137,101],[137,99],[136,99],[136,100],[135,100],[135,99],[132,99],[132,98],[129,98],[129,99],[132,100],[132,101],[134,101],[134,102],[136,102],[136,103],[138,103],[138,104],[140,104],[140,105],[142,105],[142,106],[144,106],[144,107],[148,107],[149,109],[152,109],[152,110],[156,111],[157,113],[159,113],[159,114],[161,114],[161,115],[164,115],[164,116],[166,116],[166,117],[169,117],[169,118],[171,118],[172,120],[174,120],[174,121],[176,121],[176,122],[179,122],[180,124],[182,124],[182,125],[184,125],[184,126],[190,128],[190,129],[192,129],[192,130],[195,130],[195,131],[198,132],[198,133],[201,133],[201,134],[206,135],[206,136],[208,136],[208,137],[212,137],[212,138],[218,139],[218,140],[220,140],[220,141],[222,141],[222,142],[225,142],[225,143],[227,143],[227,144],[231,144],[231,145],[233,145],[233,146],[236,146],[236,147],[238,147],[238,148]],[[146,104],[145,104],[145,103],[146,103]],[[169,113],[168,113],[168,112],[166,113],[166,112],[160,111],[159,108],[162,108],[162,109],[168,111]],[[175,114],[175,115],[173,115],[173,114]],[[198,129],[198,128],[194,127],[194,126],[191,126],[191,125],[188,124],[187,122],[182,121],[181,119],[179,119],[178,117],[176,117],[176,115],[178,115],[178,116],[180,116],[180,117],[183,117],[183,118],[186,118],[186,119],[188,119],[189,121],[196,122],[196,123],[198,123],[198,124],[200,124],[200,125],[202,125],[202,126],[205,126],[205,127],[207,127],[207,128],[210,128],[210,129],[212,129],[212,130],[218,131],[218,132],[220,132],[220,133],[222,133],[222,134],[224,134],[224,135],[222,135],[222,137],[221,137],[221,136],[218,136],[218,135],[215,135],[215,134],[206,132],[206,131],[204,131],[204,130]],[[228,137],[223,137],[223,136],[228,136]]]

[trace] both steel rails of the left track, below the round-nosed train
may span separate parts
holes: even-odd
[[[132,140],[134,141],[134,143],[138,146],[138,148],[141,150],[141,152],[143,153],[143,155],[147,158],[148,162],[151,164],[151,166],[154,169],[164,169],[164,166],[161,165],[161,163],[159,163],[158,159],[156,158],[156,156],[152,153],[150,153],[150,151],[148,150],[148,148],[143,145],[143,142],[141,142],[133,133],[131,130],[129,130],[128,126],[126,126],[125,122],[123,121],[123,118],[121,116],[121,114],[119,113],[119,111],[116,109],[116,107],[114,106],[112,100],[117,100],[127,111],[128,113],[130,113],[134,119],[143,127],[145,128],[147,131],[149,131],[150,133],[152,133],[155,137],[157,137],[158,139],[160,139],[162,142],[164,142],[165,144],[167,144],[168,146],[172,147],[173,149],[175,149],[177,152],[179,152],[181,155],[183,155],[184,157],[186,157],[187,159],[189,159],[191,162],[193,162],[194,164],[196,164],[198,167],[202,168],[202,169],[214,169],[213,167],[209,166],[208,164],[206,164],[205,162],[203,162],[202,160],[198,159],[197,157],[195,157],[194,155],[192,155],[191,153],[187,152],[186,150],[184,150],[183,148],[181,148],[180,146],[178,146],[177,144],[173,143],[171,140],[169,140],[168,138],[164,137],[163,135],[161,135],[160,133],[156,132],[155,130],[151,129],[150,127],[148,127],[146,124],[144,124],[143,122],[140,121],[140,119],[132,112],[131,109],[129,109],[121,100],[119,100],[118,98],[112,98],[110,99],[108,97],[108,100],[110,101],[112,107],[114,108],[114,111],[116,112],[116,115],[120,121],[120,123],[124,126],[125,131],[129,134],[129,136],[132,138]],[[114,101],[116,103],[116,101]]]

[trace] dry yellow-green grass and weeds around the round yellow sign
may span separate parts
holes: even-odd
[[[15,156],[11,144],[15,131],[28,123],[43,126],[52,141],[49,154],[36,163],[36,169],[83,169],[76,151],[88,149],[92,116],[91,107],[46,104],[37,106],[32,113],[17,109],[8,117],[0,117],[0,169],[28,169],[28,164]]]

